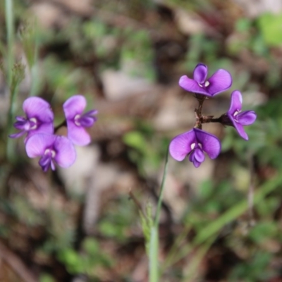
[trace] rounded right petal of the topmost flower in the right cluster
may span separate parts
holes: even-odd
[[[232,77],[228,71],[219,69],[216,71],[208,80],[209,85],[207,86],[207,92],[214,96],[228,90],[232,85]]]

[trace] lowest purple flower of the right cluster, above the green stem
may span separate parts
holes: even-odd
[[[171,140],[169,152],[171,157],[176,161],[183,161],[189,154],[191,161],[197,168],[204,161],[204,152],[211,159],[219,156],[221,143],[217,137],[204,130],[193,128],[192,130],[182,133]]]

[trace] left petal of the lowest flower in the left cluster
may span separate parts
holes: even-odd
[[[53,146],[55,140],[56,136],[51,134],[38,133],[32,135],[25,143],[27,156],[30,158],[42,156],[46,149]]]

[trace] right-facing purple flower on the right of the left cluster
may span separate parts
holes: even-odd
[[[82,114],[86,107],[86,99],[82,95],[75,95],[63,104],[63,111],[68,125],[68,138],[75,145],[85,146],[90,143],[90,135],[85,128],[89,128],[97,121],[94,116],[97,110],[87,111]]]

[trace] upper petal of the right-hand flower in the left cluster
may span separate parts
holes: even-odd
[[[86,99],[82,95],[75,95],[68,98],[66,102],[63,103],[63,111],[65,113],[66,119],[73,119],[76,115],[82,114],[86,107]]]

